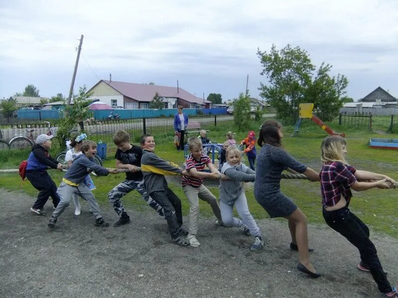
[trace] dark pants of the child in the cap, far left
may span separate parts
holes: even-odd
[[[33,187],[39,191],[33,208],[43,209],[48,197],[53,198],[54,207],[58,206],[60,198],[57,194],[57,185],[53,179],[51,179],[47,171],[27,171],[26,178],[28,178]]]

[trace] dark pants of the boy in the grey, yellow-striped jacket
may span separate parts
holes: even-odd
[[[181,201],[177,195],[170,188],[166,188],[164,191],[154,191],[149,195],[163,208],[172,239],[180,236],[181,226],[183,225],[183,213],[181,210]]]

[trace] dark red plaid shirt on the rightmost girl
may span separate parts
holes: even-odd
[[[347,203],[352,197],[350,186],[357,179],[354,176],[356,169],[339,161],[325,162],[319,172],[322,205],[324,207],[336,205],[343,195]]]

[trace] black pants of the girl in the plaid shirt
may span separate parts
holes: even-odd
[[[352,214],[347,207],[335,211],[323,209],[322,213],[326,224],[342,234],[351,244],[358,248],[361,261],[369,267],[379,291],[382,293],[391,292],[391,285],[384,274],[375,245],[369,239],[369,228],[367,225]]]

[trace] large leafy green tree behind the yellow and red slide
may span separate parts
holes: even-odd
[[[324,121],[332,120],[342,106],[348,79],[330,76],[332,68],[322,63],[313,78],[315,66],[308,53],[289,44],[281,50],[272,45],[270,52],[257,50],[269,84],[260,83],[260,96],[276,109],[278,118],[293,122],[298,118],[298,104],[312,102],[315,113]]]

